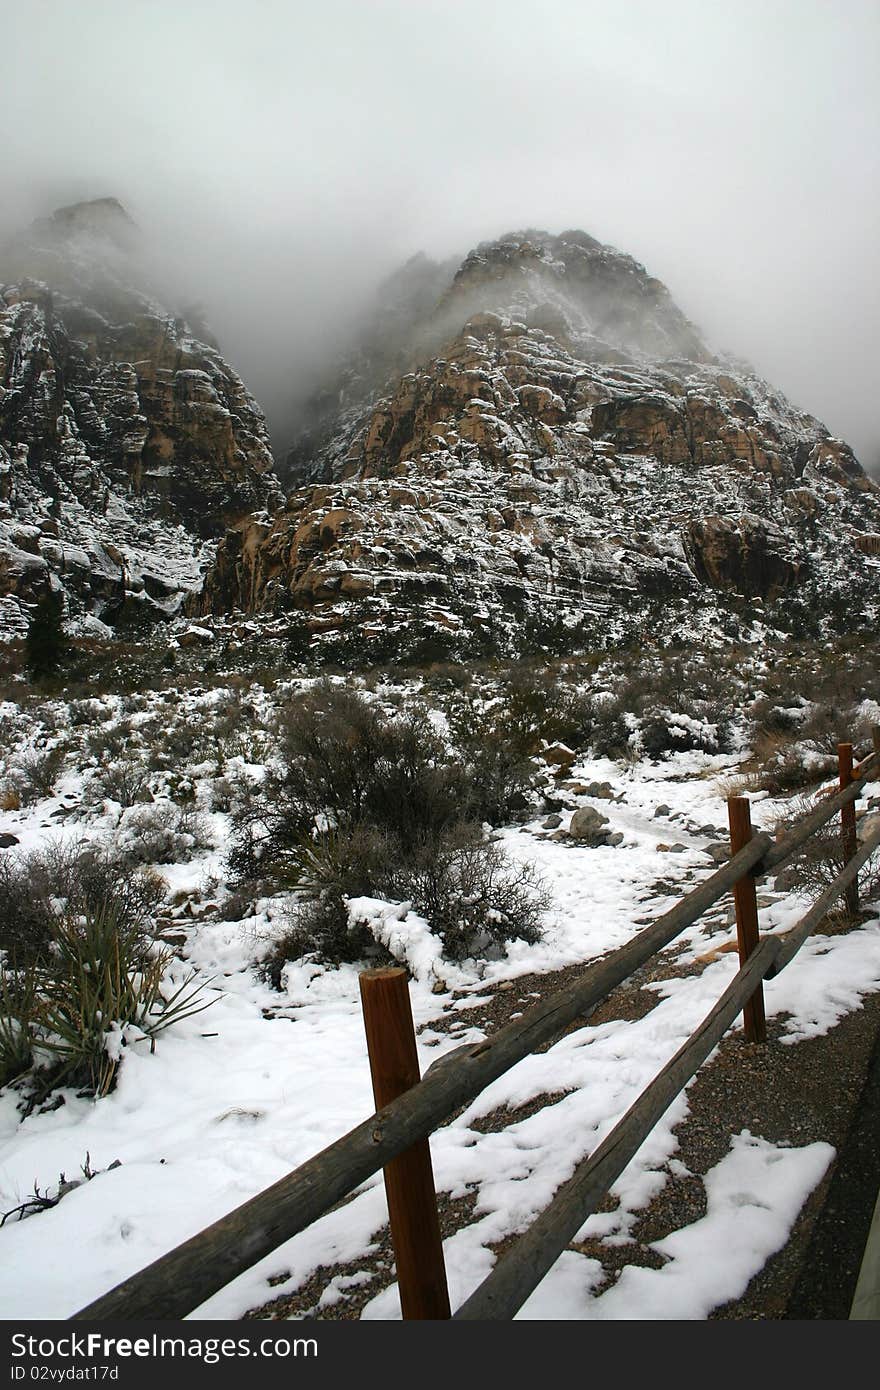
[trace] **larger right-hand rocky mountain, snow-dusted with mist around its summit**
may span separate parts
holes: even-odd
[[[193,612],[302,610],[367,648],[418,631],[462,653],[489,632],[564,651],[731,630],[756,600],[795,631],[876,617],[880,489],[631,257],[502,238],[430,314],[398,316],[378,392],[364,352],[335,416],[323,393],[286,507],[220,545]]]

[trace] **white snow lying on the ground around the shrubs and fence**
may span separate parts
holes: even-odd
[[[552,887],[553,906],[544,940],[517,942],[502,959],[450,966],[438,959],[427,926],[407,916],[406,905],[360,901],[357,913],[378,919],[377,931],[386,941],[400,938],[407,924],[414,929],[407,949],[423,1070],[450,1048],[482,1037],[468,1022],[468,1006],[488,984],[595,959],[620,947],[712,872],[705,845],[724,834],[720,781],[730,763],[702,753],[680,753],[653,766],[578,763],[578,778],[609,781],[623,798],[596,802],[612,828],[623,833],[623,844],[587,849],[542,838],[539,820],[524,831],[505,830],[505,848],[537,863]],[[36,809],[1,813],[0,831],[17,834],[22,847],[57,834],[50,813],[64,802],[65,790],[71,791],[61,784],[57,798]],[[662,803],[669,815],[658,817]],[[766,819],[770,824],[772,816],[772,805],[758,799],[756,823]],[[215,880],[222,855],[215,845],[186,865],[163,866],[163,873],[179,891],[211,876]],[[192,929],[185,954],[211,981],[207,988],[215,1002],[163,1033],[153,1054],[149,1044],[131,1047],[113,1094],[90,1101],[67,1091],[57,1109],[22,1120],[15,1094],[0,1093],[0,1209],[24,1202],[35,1184],[44,1191],[60,1175],[78,1176],[86,1155],[99,1170],[57,1207],[0,1229],[6,1318],[68,1316],[371,1113],[357,970],[298,963],[286,970],[286,992],[272,991],[253,970],[259,937],[271,930],[271,906],[264,903],[257,919],[203,922]],[[772,895],[763,924],[785,930],[804,908],[797,898]],[[685,958],[730,938],[723,912],[710,920],[709,937],[705,923],[684,933],[678,949]],[[496,1080],[434,1136],[438,1188],[453,1198],[475,1195],[471,1223],[445,1243],[453,1307],[492,1268],[488,1244],[525,1229],[685,1041],[735,969],[735,955],[722,955],[701,974],[666,981],[644,1017],[569,1033]],[[438,980],[445,992],[432,992]],[[453,988],[466,991],[455,1002]],[[880,919],[847,935],[815,937],[788,970],[766,984],[766,1008],[784,1020],[785,1038],[795,1042],[827,1031],[876,990]],[[452,1030],[434,1027],[450,1009],[459,1015]],[[500,1106],[521,1106],[544,1094],[555,1097],[552,1104],[499,1133],[474,1127]],[[673,1129],[687,1106],[685,1093],[614,1184],[619,1209],[591,1216],[582,1236],[627,1241],[638,1211],[663,1187],[667,1165],[676,1162]],[[744,1131],[706,1177],[706,1216],[658,1243],[667,1257],[662,1269],[628,1268],[613,1287],[596,1294],[598,1264],[569,1251],[520,1316],[705,1318],[742,1293],[784,1244],[831,1158],[824,1144],[784,1148]],[[117,1159],[118,1166],[107,1170]],[[193,1316],[236,1318],[295,1289],[318,1265],[366,1261],[384,1222],[377,1175],[345,1208],[279,1247]],[[324,1305],[343,1287],[345,1280],[336,1280]],[[364,1316],[399,1316],[393,1284],[373,1298]]]

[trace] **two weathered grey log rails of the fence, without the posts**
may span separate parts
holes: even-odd
[[[531,1052],[555,1041],[576,1019],[588,1017],[612,990],[692,926],[744,877],[769,873],[797,853],[816,830],[855,802],[865,781],[880,769],[880,731],[874,731],[874,749],[854,770],[848,785],[823,798],[783,840],[774,841],[766,831],[753,834],[742,849],[674,908],[624,947],[585,966],[582,974],[566,988],[539,1001],[487,1041],[466,1044],[439,1058],[420,1081],[364,1123],[146,1269],[122,1280],[76,1312],[74,1319],[179,1319],[192,1312],[211,1294],[310,1226],[367,1177],[386,1168],[414,1144],[427,1140],[491,1081]],[[456,1312],[456,1318],[513,1316],[723,1037],[745,1001],[760,986],[760,980],[777,974],[788,965],[830,903],[856,881],[859,867],[879,844],[880,831],[866,840],[855,859],[791,931],[759,942],[696,1033],[655,1077],[599,1148],[578,1165],[571,1179],[555,1194],[549,1208],[498,1262],[488,1279]]]

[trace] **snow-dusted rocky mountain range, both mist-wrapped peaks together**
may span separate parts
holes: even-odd
[[[524,231],[410,260],[285,460],[114,199],[0,274],[0,620],[302,614],[356,657],[876,620],[880,489],[642,265]],[[425,645],[427,644],[427,645]]]

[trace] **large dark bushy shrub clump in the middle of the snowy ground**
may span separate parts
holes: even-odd
[[[349,929],[348,899],[361,895],[434,913],[455,954],[532,940],[528,873],[502,872],[481,827],[523,796],[531,764],[517,748],[474,727],[450,748],[427,710],[388,716],[327,684],[284,708],[278,738],[279,769],[235,817],[228,856],[241,885],[271,876],[296,891],[271,979],[292,955],[375,954],[366,929]]]

